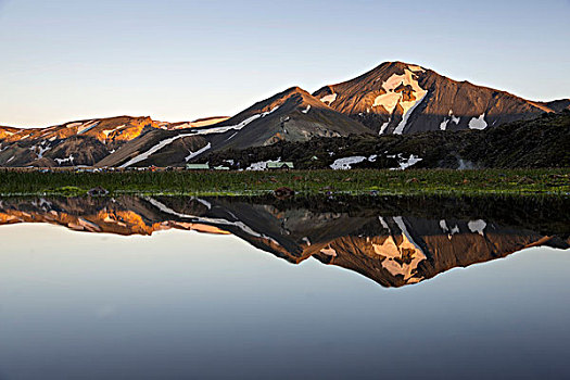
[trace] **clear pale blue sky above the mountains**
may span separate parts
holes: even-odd
[[[232,115],[394,60],[568,98],[569,20],[569,0],[0,0],[0,125]]]

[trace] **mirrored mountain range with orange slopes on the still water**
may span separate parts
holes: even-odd
[[[383,287],[535,245],[570,248],[563,198],[5,198],[0,224],[50,223],[86,232],[170,228],[232,233],[299,264],[314,257]]]

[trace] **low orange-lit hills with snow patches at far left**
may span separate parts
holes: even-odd
[[[105,163],[115,166],[121,157],[127,160],[128,153],[136,149],[144,151],[164,138],[227,118],[166,123],[153,121],[149,116],[117,116],[71,122],[48,128],[0,127],[0,166],[94,166],[100,162],[103,163],[101,166]],[[189,148],[194,145],[189,144]],[[122,152],[113,156],[118,151]]]

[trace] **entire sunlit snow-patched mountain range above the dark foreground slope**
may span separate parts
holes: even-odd
[[[161,122],[114,116],[47,128],[0,126],[0,166],[181,166],[225,150],[315,138],[489,129],[570,110],[384,62],[309,93],[291,87],[235,116]]]

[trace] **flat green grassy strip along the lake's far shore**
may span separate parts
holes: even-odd
[[[111,193],[240,195],[289,187],[301,193],[570,194],[570,169],[292,172],[0,172],[1,194]]]

